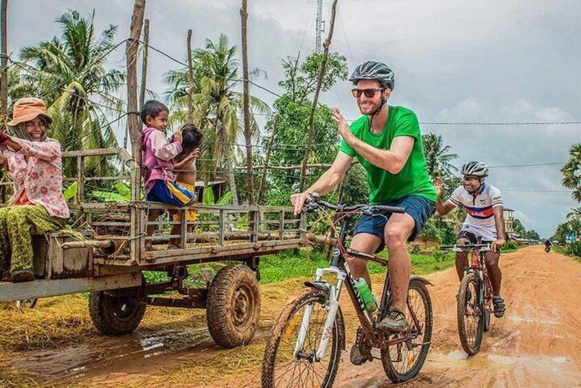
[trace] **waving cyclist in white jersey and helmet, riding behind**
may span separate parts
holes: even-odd
[[[503,204],[500,190],[484,183],[487,175],[486,164],[478,161],[466,163],[462,166],[462,186],[457,187],[445,203],[442,203],[442,179],[438,179],[435,184],[436,210],[440,216],[446,216],[459,205],[466,209],[466,220],[462,224],[456,244],[490,242],[491,251],[486,253],[485,262],[492,283],[494,317],[500,318],[506,310],[500,293],[502,272],[499,267],[500,251],[506,242]],[[456,271],[460,280],[464,275],[467,254],[461,252],[456,255]]]

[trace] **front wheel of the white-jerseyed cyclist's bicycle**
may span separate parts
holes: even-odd
[[[457,299],[458,334],[462,349],[468,354],[477,354],[484,329],[483,305],[478,295],[479,279],[468,273],[460,282]]]

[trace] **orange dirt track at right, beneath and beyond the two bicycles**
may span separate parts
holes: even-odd
[[[468,358],[457,334],[458,279],[434,273],[434,332],[420,375],[402,386],[581,386],[581,264],[527,247],[501,256],[505,316],[492,317],[481,350]],[[349,346],[349,345],[348,345]],[[354,367],[343,356],[335,387],[389,387],[380,361]]]

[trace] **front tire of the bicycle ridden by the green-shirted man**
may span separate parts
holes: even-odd
[[[293,299],[289,300],[286,305],[284,306],[282,312],[280,313],[279,317],[275,321],[275,325],[271,331],[271,335],[269,336],[269,340],[266,342],[266,348],[264,350],[264,358],[262,361],[262,376],[261,376],[261,383],[263,388],[274,388],[274,387],[323,387],[323,388],[330,388],[332,387],[335,377],[337,376],[337,369],[339,368],[339,363],[341,362],[341,349],[343,348],[343,344],[345,341],[345,327],[343,325],[343,314],[341,312],[341,307],[337,311],[337,316],[335,317],[334,324],[332,326],[332,332],[330,336],[330,343],[327,347],[326,356],[323,359],[328,358],[329,363],[328,367],[326,367],[324,376],[321,374],[317,374],[315,372],[315,366],[312,366],[312,374],[309,376],[304,376],[304,381],[301,378],[301,374],[295,378],[295,372],[297,366],[299,364],[303,364],[308,366],[308,362],[304,359],[297,358],[296,356],[292,356],[288,365],[291,363],[295,363],[295,367],[293,368],[293,374],[290,376],[290,380],[284,380],[284,375],[278,376],[277,372],[281,372],[281,369],[284,365],[280,365],[277,367],[277,356],[280,355],[280,350],[284,347],[284,350],[291,350],[291,354],[294,354],[294,346],[296,340],[288,341],[296,330],[295,325],[297,323],[301,323],[302,320],[302,313],[301,310],[308,304],[314,304],[312,315],[311,315],[311,323],[309,323],[309,332],[307,334],[307,338],[304,341],[304,345],[306,347],[310,347],[310,350],[306,352],[313,352],[319,345],[319,339],[321,338],[322,331],[319,330],[312,330],[312,338],[309,336],[310,329],[314,326],[312,324],[313,317],[315,319],[321,317],[320,314],[315,316],[315,307],[320,306],[320,311],[323,312],[322,321],[326,318],[326,300],[327,300],[327,293],[322,290],[315,290],[313,288],[305,288],[299,294],[295,295]],[[317,310],[319,312],[319,310]],[[322,326],[321,326],[322,328]],[[296,337],[293,337],[295,339]],[[281,342],[284,341],[284,345],[281,346]],[[305,348],[305,347],[304,347]],[[294,358],[293,358],[294,357]],[[321,360],[322,361],[322,360]],[[319,362],[321,362],[319,361]],[[280,361],[281,363],[283,361]],[[311,362],[310,364],[313,365],[317,363]],[[322,364],[321,364],[322,365]],[[284,369],[283,372],[290,372],[288,371],[288,366]],[[301,373],[301,372],[299,372]],[[288,377],[287,377],[288,378]],[[315,378],[321,378],[320,382],[315,383]],[[306,385],[300,385],[301,383],[306,383]]]

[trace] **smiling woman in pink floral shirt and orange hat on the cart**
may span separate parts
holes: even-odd
[[[69,208],[62,196],[60,143],[46,136],[52,119],[38,98],[21,98],[8,123],[16,136],[0,132],[0,163],[8,164],[14,196],[0,209],[0,274],[4,281],[28,282],[32,234],[62,229]]]

